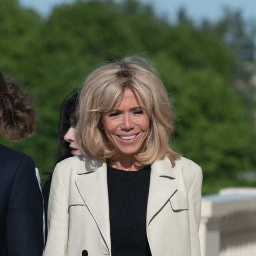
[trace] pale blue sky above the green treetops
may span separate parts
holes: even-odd
[[[63,3],[72,3],[75,0],[20,0],[25,7],[34,8],[41,15],[49,15],[51,9]],[[117,0],[120,1],[120,0]],[[232,10],[241,9],[246,19],[256,19],[256,0],[140,0],[142,3],[151,3],[158,15],[166,15],[169,20],[175,20],[177,10],[183,6],[187,14],[194,20],[208,18],[218,19],[224,6]]]

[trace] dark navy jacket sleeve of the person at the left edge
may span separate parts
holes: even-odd
[[[42,256],[43,198],[33,160],[22,156],[12,182],[6,215],[8,256]]]

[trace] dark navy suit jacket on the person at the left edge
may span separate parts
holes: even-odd
[[[43,199],[33,160],[0,144],[0,255],[42,256]]]

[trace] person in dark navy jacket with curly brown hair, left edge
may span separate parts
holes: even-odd
[[[0,73],[0,134],[23,139],[37,122],[32,98]],[[42,256],[43,199],[33,160],[0,144],[0,255]]]

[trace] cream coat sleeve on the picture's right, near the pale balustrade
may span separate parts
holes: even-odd
[[[201,220],[202,180],[202,169],[199,167],[196,178],[188,192],[191,256],[200,256],[201,254],[199,241],[199,226]]]

